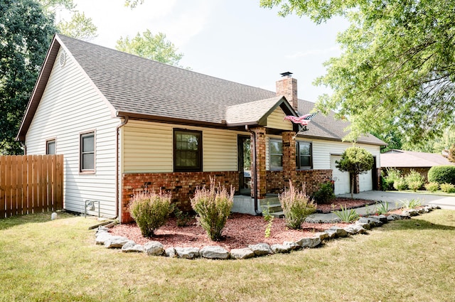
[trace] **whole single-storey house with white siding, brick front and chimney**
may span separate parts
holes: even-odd
[[[336,193],[348,193],[347,173],[334,168],[352,146],[341,141],[347,124],[318,114],[296,136],[284,117],[314,106],[296,87],[289,74],[275,93],[56,35],[17,139],[28,154],[64,155],[65,209],[99,200],[103,216],[122,222],[134,193],[169,190],[189,209],[210,176],[250,195],[255,210],[289,179],[311,194],[336,178]],[[377,188],[381,145],[358,140],[375,156],[358,190]]]

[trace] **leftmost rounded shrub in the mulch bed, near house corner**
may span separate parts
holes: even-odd
[[[173,211],[171,194],[139,193],[129,204],[129,213],[136,221],[144,237],[153,237],[155,230],[162,227]]]

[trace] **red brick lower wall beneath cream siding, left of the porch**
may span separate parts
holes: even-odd
[[[210,176],[215,182],[225,185],[226,188],[239,187],[239,173],[226,172],[176,172],[176,173],[125,173],[122,175],[122,222],[132,222],[129,215],[129,200],[135,193],[143,190],[159,190],[172,193],[172,201],[182,210],[191,210],[190,199],[194,190],[204,185],[210,185]]]

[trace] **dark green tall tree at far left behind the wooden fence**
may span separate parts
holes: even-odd
[[[0,0],[0,154],[22,152],[14,138],[53,33],[38,2]]]

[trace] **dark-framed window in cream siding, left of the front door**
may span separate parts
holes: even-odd
[[[173,170],[202,171],[202,132],[174,129]]]

